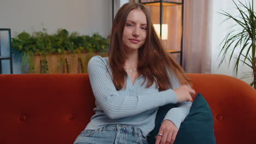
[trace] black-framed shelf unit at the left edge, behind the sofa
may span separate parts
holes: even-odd
[[[13,58],[11,56],[11,31],[10,28],[0,28],[0,74],[5,60],[10,62],[10,74],[13,74]]]

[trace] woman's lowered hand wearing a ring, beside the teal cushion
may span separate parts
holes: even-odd
[[[162,122],[158,133],[159,135],[155,137],[155,144],[172,144],[176,138],[177,133],[178,129],[174,123],[166,119],[164,122]]]

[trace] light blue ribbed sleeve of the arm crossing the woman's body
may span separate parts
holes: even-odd
[[[95,99],[109,118],[122,118],[155,109],[166,104],[176,104],[177,97],[172,89],[147,95],[120,95],[107,72],[107,62],[94,56],[88,63],[88,74]]]

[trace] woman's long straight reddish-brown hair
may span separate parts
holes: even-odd
[[[164,91],[168,87],[172,88],[170,79],[168,79],[168,71],[173,71],[182,85],[191,85],[191,80],[185,75],[182,67],[162,49],[148,10],[143,4],[126,3],[118,10],[110,35],[108,68],[111,69],[115,88],[119,91],[126,87],[127,73],[123,67],[127,56],[123,47],[123,31],[127,16],[133,9],[142,10],[147,17],[147,38],[143,46],[138,49],[137,65],[138,73],[145,77],[143,83],[147,80],[146,88],[152,86],[154,82],[157,84],[156,87],[159,87],[159,91]]]

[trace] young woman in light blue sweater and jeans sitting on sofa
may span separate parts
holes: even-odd
[[[147,9],[126,3],[115,16],[108,57],[90,59],[95,115],[74,143],[147,143],[159,106],[179,103],[156,143],[173,143],[195,94],[183,69],[162,49]]]

